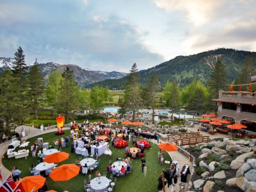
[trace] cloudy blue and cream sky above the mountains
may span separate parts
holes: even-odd
[[[254,0],[0,0],[0,57],[148,69],[220,47],[256,50]]]

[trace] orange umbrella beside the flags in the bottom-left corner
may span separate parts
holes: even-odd
[[[25,191],[37,191],[45,184],[46,178],[41,175],[28,176],[21,179],[21,185]]]

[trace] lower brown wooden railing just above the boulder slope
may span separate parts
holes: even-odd
[[[180,139],[175,139],[174,141],[170,142],[175,142],[176,145],[196,145],[197,143],[202,143],[202,142],[210,142],[209,136],[197,136],[197,137],[184,137]]]

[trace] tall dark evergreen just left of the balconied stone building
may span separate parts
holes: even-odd
[[[225,88],[226,82],[226,72],[225,66],[221,62],[221,59],[217,59],[217,62],[213,66],[210,74],[209,80],[209,109],[217,110],[217,105],[215,101],[211,101],[211,99],[218,98],[219,91]]]

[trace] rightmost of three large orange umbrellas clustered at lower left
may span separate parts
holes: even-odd
[[[51,171],[49,177],[53,181],[68,181],[79,174],[80,167],[75,164],[63,164]],[[66,191],[66,182],[65,182]]]

